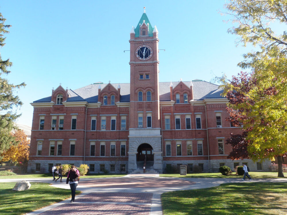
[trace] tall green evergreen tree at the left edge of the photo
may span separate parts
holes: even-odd
[[[5,25],[6,19],[3,18],[0,13],[0,48],[5,45],[4,34],[9,33],[6,29],[10,28],[10,25]],[[10,148],[11,145],[17,144],[15,137],[11,136],[12,129],[15,129],[14,121],[21,115],[13,112],[13,107],[19,107],[22,105],[19,97],[14,95],[15,89],[25,86],[25,83],[19,85],[10,84],[9,81],[3,76],[10,73],[7,70],[12,66],[12,62],[9,59],[2,60],[0,54],[0,153]]]

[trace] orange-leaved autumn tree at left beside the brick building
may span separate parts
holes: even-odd
[[[23,130],[16,130],[12,133],[17,145],[12,145],[8,150],[1,153],[2,162],[12,161],[26,164],[29,160],[30,140]]]

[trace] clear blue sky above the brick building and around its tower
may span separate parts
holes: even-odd
[[[1,0],[0,12],[12,27],[2,59],[13,66],[10,83],[24,105],[17,123],[31,126],[31,102],[51,95],[61,83],[77,89],[97,81],[129,83],[129,33],[144,7],[158,29],[160,82],[211,81],[241,71],[248,48],[235,46],[232,26],[222,16],[224,0],[201,1],[16,1]]]

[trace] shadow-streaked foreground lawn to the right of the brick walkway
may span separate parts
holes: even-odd
[[[163,193],[164,215],[287,214],[286,183],[232,183]]]

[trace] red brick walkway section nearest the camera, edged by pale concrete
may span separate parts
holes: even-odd
[[[41,214],[149,215],[152,195],[152,193],[88,193],[77,198],[74,203],[65,203]]]

